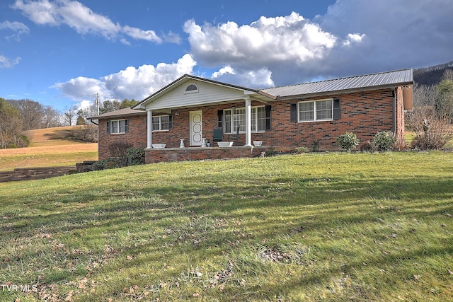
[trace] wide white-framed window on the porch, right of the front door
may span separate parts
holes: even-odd
[[[270,109],[266,110],[266,106],[252,107],[251,126],[252,132],[265,132],[270,129]],[[224,133],[236,133],[246,131],[246,108],[238,108],[236,110],[224,110]]]

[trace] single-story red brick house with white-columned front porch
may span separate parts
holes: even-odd
[[[147,163],[250,157],[314,144],[333,151],[345,132],[361,142],[381,131],[403,139],[412,85],[412,69],[260,90],[186,74],[134,108],[91,119],[99,122],[100,159],[109,157],[108,144],[116,140],[146,148]],[[239,139],[219,148],[214,129],[217,140]]]

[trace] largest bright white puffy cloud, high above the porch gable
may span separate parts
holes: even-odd
[[[231,21],[217,27],[200,26],[190,20],[184,30],[195,59],[210,66],[220,62],[248,69],[284,62],[301,65],[324,57],[336,43],[331,33],[294,12],[285,17],[261,17],[241,26]]]

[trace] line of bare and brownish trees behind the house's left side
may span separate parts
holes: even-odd
[[[136,100],[105,100],[99,114],[120,110],[137,104]],[[77,108],[71,105],[63,112],[42,105],[35,100],[6,100],[0,98],[0,149],[28,146],[25,132],[33,129],[50,127],[88,125],[88,117],[98,115],[98,108],[91,104],[89,108]]]

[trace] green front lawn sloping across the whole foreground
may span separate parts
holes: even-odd
[[[2,183],[0,282],[33,290],[0,300],[452,301],[452,172],[304,153]]]

